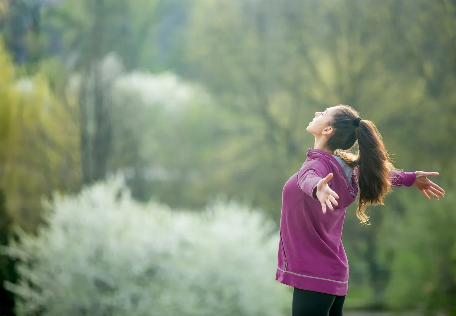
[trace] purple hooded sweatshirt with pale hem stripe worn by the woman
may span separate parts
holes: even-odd
[[[318,181],[333,173],[328,185],[339,199],[334,211],[321,211],[312,196]],[[393,186],[411,186],[414,172],[392,171]],[[351,186],[342,166],[323,150],[309,149],[301,169],[286,183],[282,194],[280,243],[275,280],[302,290],[347,295],[348,262],[342,245],[347,207],[358,194],[358,168]],[[354,214],[353,214],[354,216]]]

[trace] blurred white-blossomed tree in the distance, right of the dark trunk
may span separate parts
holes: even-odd
[[[106,69],[119,68],[114,62],[104,64]],[[200,135],[211,135],[211,126],[220,128],[205,89],[171,72],[124,72],[116,77],[110,95],[114,151],[128,151],[124,149],[139,142],[138,155],[151,165],[187,166],[178,156],[188,160],[202,143]]]

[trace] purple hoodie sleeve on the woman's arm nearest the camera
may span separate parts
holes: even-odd
[[[326,164],[318,159],[305,162],[298,171],[298,186],[302,192],[313,199],[317,199],[314,190],[318,181],[326,177],[331,171]]]

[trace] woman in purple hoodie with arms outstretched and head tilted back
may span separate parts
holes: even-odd
[[[293,316],[340,316],[348,288],[342,226],[357,195],[356,215],[367,223],[366,206],[383,204],[392,186],[415,185],[429,200],[445,192],[427,178],[437,172],[396,170],[375,125],[347,105],[317,112],[307,131],[314,149],[283,189],[276,280],[294,287]],[[358,155],[342,151],[356,141]]]

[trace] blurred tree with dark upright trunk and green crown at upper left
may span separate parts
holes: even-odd
[[[65,1],[47,12],[63,30],[64,57],[81,76],[78,100],[83,183],[104,179],[113,146],[111,82],[102,59],[117,52],[129,68],[138,64],[153,26],[155,1]]]

